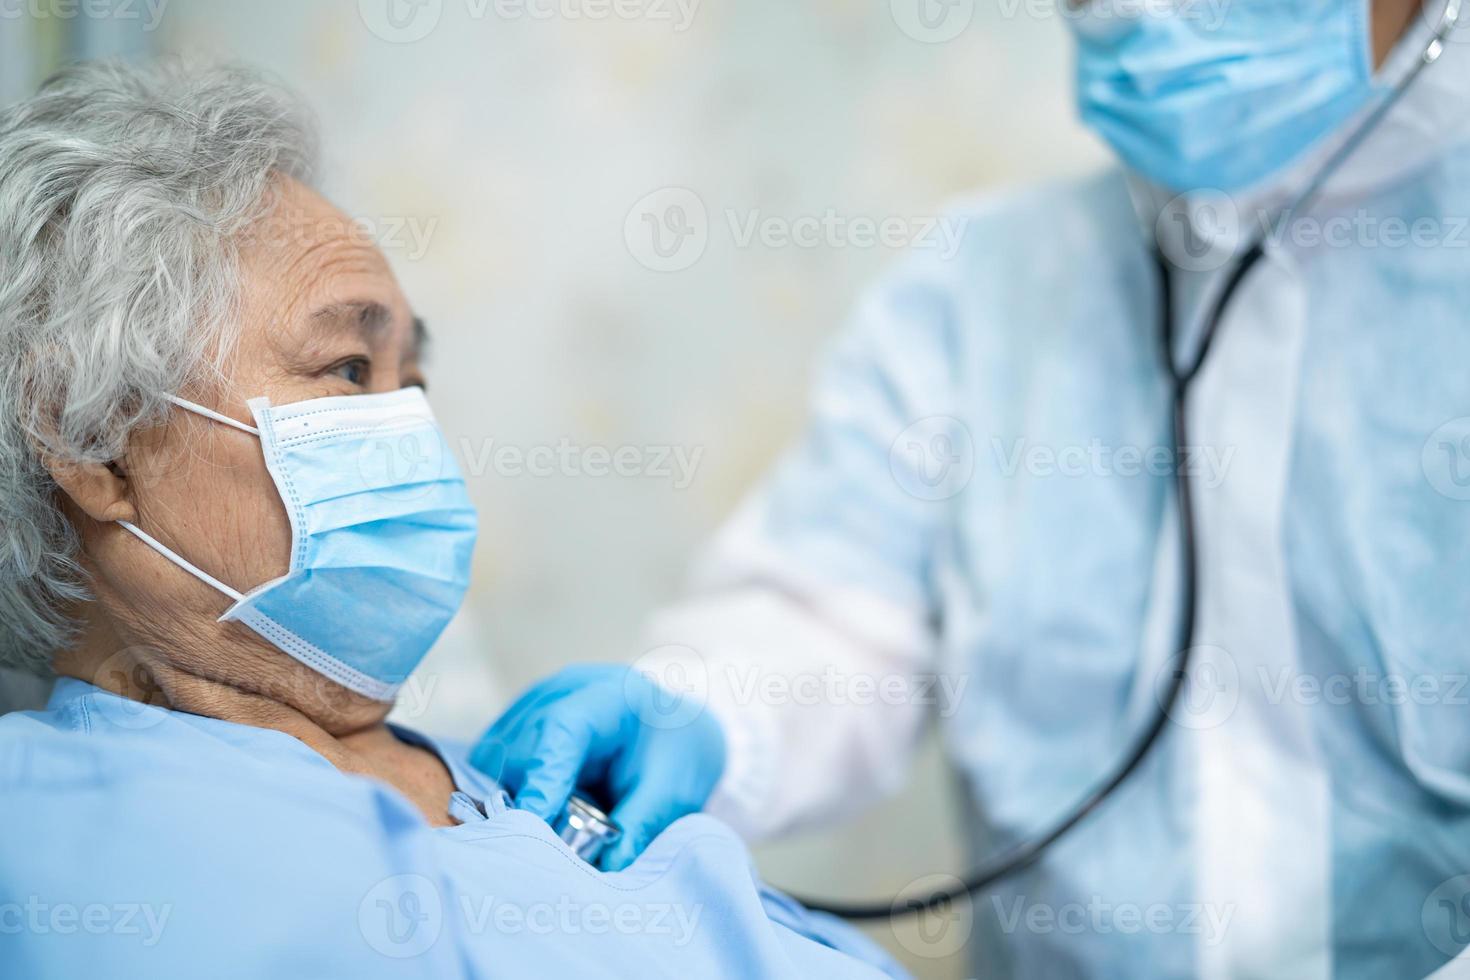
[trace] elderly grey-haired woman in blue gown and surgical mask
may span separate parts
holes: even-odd
[[[423,325],[307,134],[176,66],[0,115],[0,658],[59,676],[0,720],[4,973],[895,971],[707,817],[600,873],[385,723],[475,514]]]

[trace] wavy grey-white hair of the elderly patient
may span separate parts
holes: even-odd
[[[219,369],[240,237],[315,159],[301,103],[241,68],[82,63],[0,110],[0,667],[46,674],[88,598],[43,454],[118,458]]]

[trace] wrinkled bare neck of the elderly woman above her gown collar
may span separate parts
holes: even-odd
[[[448,770],[434,752],[392,733],[385,721],[388,705],[362,698],[285,654],[265,658],[265,670],[251,660],[243,651],[201,649],[197,644],[125,644],[109,623],[84,619],[76,644],[60,651],[53,667],[60,676],[132,701],[284,732],[338,770],[394,786],[431,824],[453,823]],[[256,669],[240,670],[243,661]]]

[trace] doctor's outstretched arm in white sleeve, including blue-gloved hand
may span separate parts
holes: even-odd
[[[626,832],[610,868],[706,802],[764,836],[897,790],[939,688],[932,557],[945,480],[963,476],[945,454],[969,438],[953,417],[953,323],[932,270],[873,289],[797,445],[653,617],[639,680],[573,667],[542,682],[476,764],[548,817],[575,786],[603,786]]]

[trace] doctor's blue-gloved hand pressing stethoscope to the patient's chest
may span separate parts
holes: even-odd
[[[587,788],[623,836],[600,864],[628,867],[670,823],[704,807],[725,770],[719,721],[619,664],[567,667],[534,685],[481,736],[470,763],[516,807],[554,821]]]

